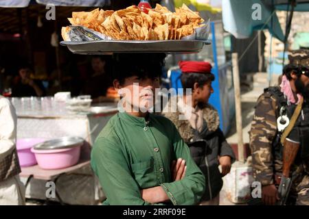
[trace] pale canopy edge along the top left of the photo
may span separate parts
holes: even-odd
[[[0,0],[0,7],[25,8],[33,3],[54,4],[56,6],[102,7],[103,5],[110,5],[111,0]]]

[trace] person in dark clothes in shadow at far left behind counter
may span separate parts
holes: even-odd
[[[12,96],[43,96],[45,88],[41,81],[31,79],[32,70],[23,65],[19,68],[19,75],[13,79]]]

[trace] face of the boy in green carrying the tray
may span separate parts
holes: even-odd
[[[114,86],[116,89],[120,89],[120,95],[123,96],[124,101],[130,105],[131,109],[134,107],[135,110],[144,112],[154,106],[155,89],[159,88],[160,81],[159,77],[154,79],[146,77],[142,79],[138,76],[132,76],[127,77],[122,85],[119,84],[119,81],[117,83],[117,80],[115,80]],[[127,105],[126,109],[128,109]]]

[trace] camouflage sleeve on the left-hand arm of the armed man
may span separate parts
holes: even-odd
[[[264,92],[255,105],[251,123],[250,147],[252,151],[253,177],[262,185],[274,183],[274,173],[282,172],[282,161],[273,155],[273,140],[277,133],[279,104],[275,96]]]

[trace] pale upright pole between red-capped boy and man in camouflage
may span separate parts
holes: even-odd
[[[236,129],[238,136],[238,160],[244,163],[244,143],[242,142],[242,106],[240,98],[240,77],[238,68],[238,53],[232,54],[233,83],[235,90]]]

